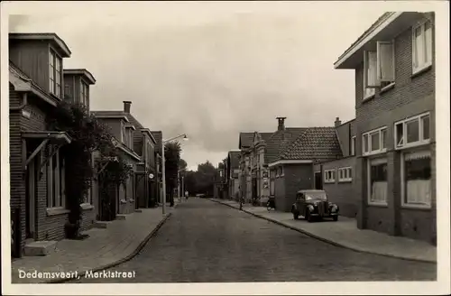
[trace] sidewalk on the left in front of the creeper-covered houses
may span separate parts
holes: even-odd
[[[177,207],[178,201],[176,200]],[[174,208],[175,208],[174,207]],[[166,215],[159,208],[142,208],[142,213],[132,213],[125,220],[111,221],[107,228],[91,228],[84,234],[85,240],[63,239],[58,242],[55,252],[46,256],[23,256],[12,262],[13,283],[63,282],[56,279],[21,279],[19,270],[24,272],[65,272],[84,273],[100,271],[131,259],[156,233],[174,208],[166,207]]]

